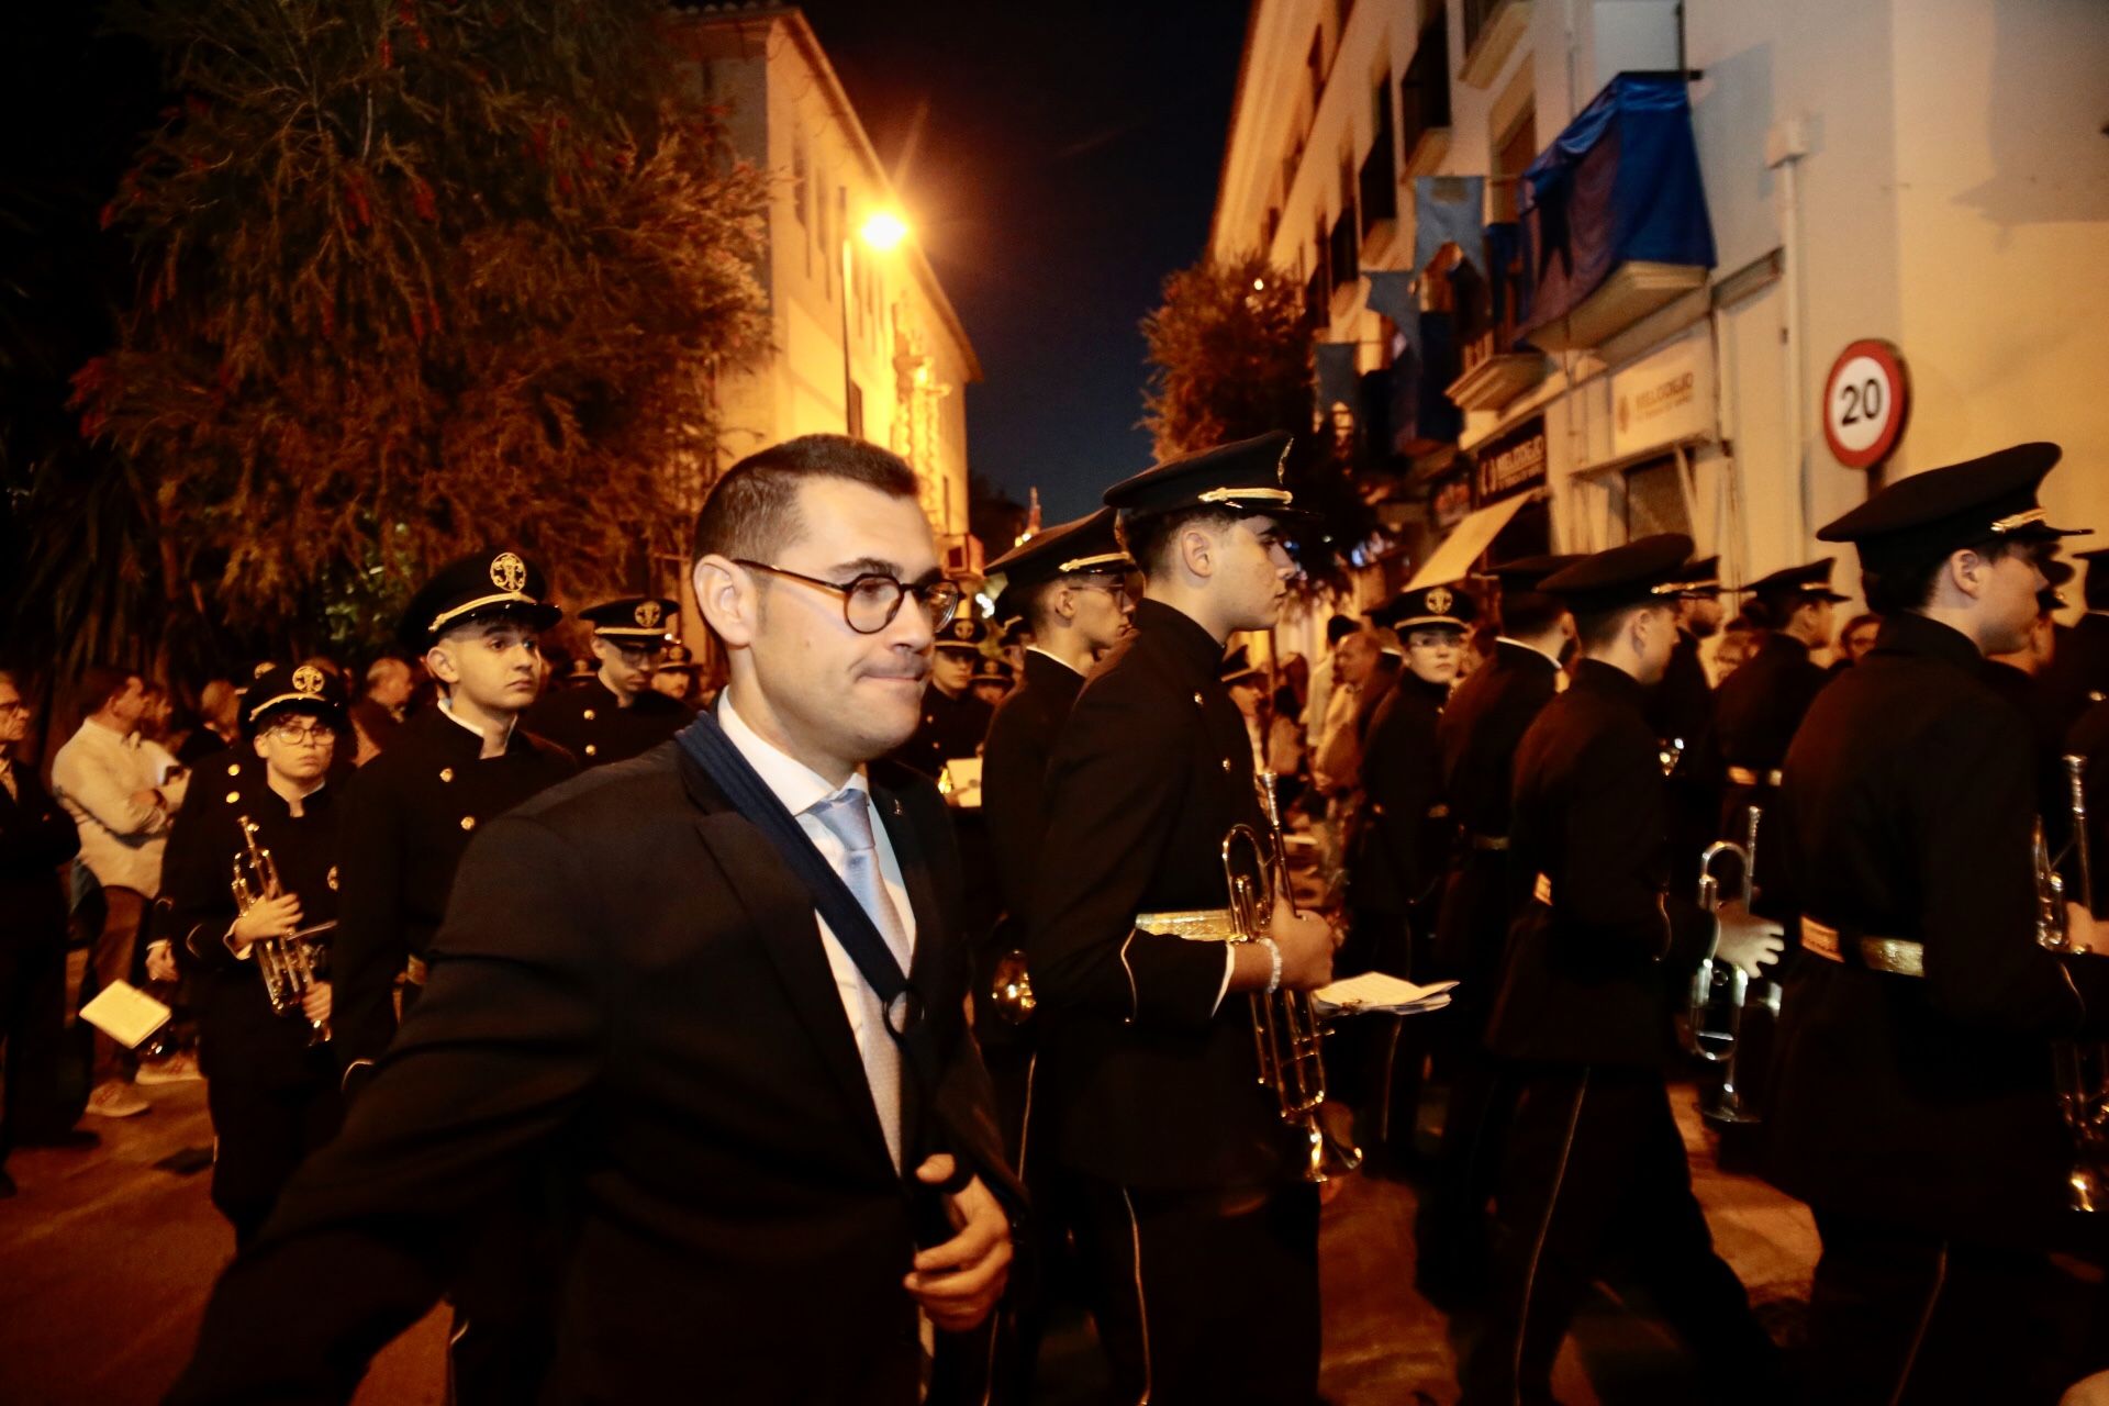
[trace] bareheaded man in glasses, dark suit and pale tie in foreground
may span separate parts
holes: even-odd
[[[922,1400],[926,1345],[943,1362],[1002,1292],[1014,1191],[945,807],[882,761],[960,603],[915,487],[860,441],[763,449],[713,485],[692,578],[730,666],[698,738],[789,812],[917,999],[879,1003],[810,864],[704,763],[723,750],[527,801],[470,847],[424,999],[221,1280],[171,1400],[350,1398],[521,1164],[550,1168],[572,1252],[555,1366],[515,1400]]]

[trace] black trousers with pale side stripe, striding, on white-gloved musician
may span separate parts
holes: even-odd
[[[1786,1400],[1780,1353],[1691,1195],[1662,1075],[1527,1065],[1499,1176],[1493,1305],[1464,1358],[1459,1402],[1552,1402],[1552,1360],[1613,1248],[1721,1400]]]

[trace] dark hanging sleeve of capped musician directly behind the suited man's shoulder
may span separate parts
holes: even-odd
[[[329,1043],[350,1073],[361,1060],[378,1060],[394,1039],[394,978],[409,957],[401,894],[403,803],[386,772],[352,776],[337,843]]]

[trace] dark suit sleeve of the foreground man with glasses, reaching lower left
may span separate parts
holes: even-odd
[[[586,892],[576,852],[534,820],[496,820],[470,847],[437,938],[447,959],[344,1132],[221,1275],[171,1404],[344,1402],[439,1298],[466,1212],[561,1136],[599,1075]]]

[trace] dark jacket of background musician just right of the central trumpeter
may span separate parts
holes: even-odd
[[[1455,824],[1443,799],[1436,727],[1449,685],[1402,670],[1362,740],[1362,803],[1348,837],[1350,902],[1407,917],[1443,883]]]

